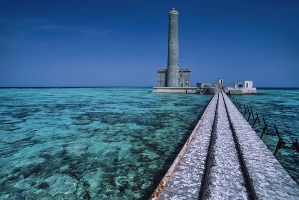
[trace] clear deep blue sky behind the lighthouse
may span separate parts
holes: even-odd
[[[0,87],[153,86],[179,12],[191,86],[299,87],[298,0],[1,0]]]

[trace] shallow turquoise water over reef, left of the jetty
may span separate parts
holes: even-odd
[[[0,199],[147,199],[212,96],[0,89]]]

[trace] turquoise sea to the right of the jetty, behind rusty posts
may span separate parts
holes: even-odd
[[[277,126],[284,141],[293,141],[299,139],[299,90],[277,89],[277,90],[257,90],[258,95],[233,96],[245,103],[253,112],[257,112],[261,119],[261,124],[255,125],[254,129],[261,136],[264,122],[263,117],[268,123],[269,132],[273,135],[263,136],[263,141],[267,147],[274,153],[278,136],[274,125]],[[240,112],[244,114],[244,105]],[[245,116],[248,119],[248,114]],[[253,124],[253,118],[249,123]],[[280,149],[277,159],[288,171],[292,178],[299,184],[299,152],[290,149]]]

